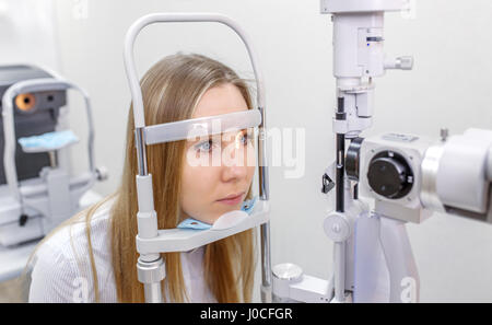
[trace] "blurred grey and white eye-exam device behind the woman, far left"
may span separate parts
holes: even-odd
[[[68,151],[78,138],[66,127],[67,91],[85,101],[89,171],[70,175]],[[81,197],[104,170],[94,165],[89,95],[34,66],[0,67],[0,245],[43,237],[81,208]]]

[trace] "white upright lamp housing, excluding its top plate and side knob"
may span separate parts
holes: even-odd
[[[385,74],[384,12],[335,14],[333,76],[344,97],[345,120],[333,119],[333,130],[355,138],[372,126],[374,84]]]

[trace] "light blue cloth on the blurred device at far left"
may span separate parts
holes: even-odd
[[[51,151],[79,141],[72,130],[48,132],[40,136],[20,138],[24,151]]]

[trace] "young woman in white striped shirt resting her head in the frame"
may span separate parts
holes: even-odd
[[[213,116],[251,108],[246,82],[221,62],[177,54],[154,65],[141,80],[145,125]],[[137,154],[133,112],[127,126],[121,184],[102,202],[57,228],[36,248],[30,302],[143,302],[137,278]],[[234,164],[190,164],[234,146]],[[255,165],[251,137],[181,140],[148,148],[159,228],[194,218],[212,224],[251,198]],[[241,154],[239,154],[241,153]],[[244,154],[243,154],[244,153]],[[219,153],[220,154],[220,153]],[[221,156],[221,155],[220,155]],[[227,199],[225,199],[227,198]],[[253,230],[186,253],[162,254],[163,297],[168,302],[249,302],[255,272]]]

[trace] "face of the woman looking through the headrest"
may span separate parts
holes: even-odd
[[[192,117],[247,109],[239,90],[227,83],[208,90]],[[181,174],[183,219],[213,224],[223,213],[241,209],[255,174],[253,143],[253,132],[248,135],[247,129],[187,140]],[[238,197],[224,200],[231,196]]]

